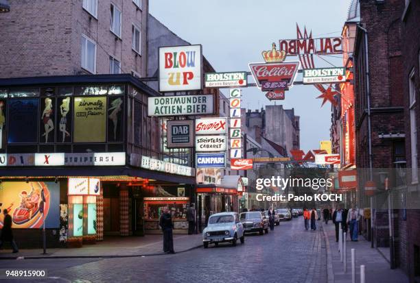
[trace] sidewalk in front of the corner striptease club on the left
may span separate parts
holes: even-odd
[[[19,243],[17,243],[19,246]],[[174,235],[174,249],[176,253],[188,251],[202,246],[202,235]],[[19,253],[12,254],[10,249],[0,250],[1,259],[29,258],[118,258],[129,256],[156,256],[163,253],[163,235],[146,236],[113,236],[107,237],[95,245],[84,245],[81,248],[47,249],[47,255],[42,254],[43,249],[20,249]]]

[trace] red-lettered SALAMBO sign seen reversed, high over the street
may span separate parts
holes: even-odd
[[[279,40],[279,49],[286,55],[339,54],[342,53],[342,38],[299,38]]]

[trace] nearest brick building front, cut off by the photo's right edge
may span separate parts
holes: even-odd
[[[405,1],[404,12],[401,13],[401,46],[403,53],[402,87],[404,90],[404,121],[406,128],[406,156],[408,171],[412,171],[408,180],[406,198],[415,200],[407,208],[406,220],[399,219],[404,233],[401,232],[401,268],[408,273],[411,282],[420,278],[420,188],[418,184],[420,162],[419,136],[417,129],[420,125],[420,108],[417,100],[420,93],[420,3],[419,1]],[[409,177],[410,178],[410,177]],[[416,181],[417,180],[417,181]],[[411,182],[410,182],[411,181]],[[409,232],[408,232],[409,231]]]

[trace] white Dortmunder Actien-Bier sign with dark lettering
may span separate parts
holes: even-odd
[[[149,116],[200,115],[213,113],[213,95],[149,97]]]

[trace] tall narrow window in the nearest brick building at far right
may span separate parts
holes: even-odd
[[[411,144],[411,182],[419,182],[419,171],[417,169],[417,122],[416,122],[416,88],[415,70],[412,69],[408,76],[408,87],[410,91],[410,144]]]

